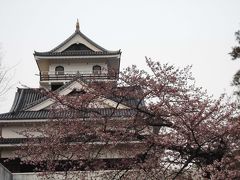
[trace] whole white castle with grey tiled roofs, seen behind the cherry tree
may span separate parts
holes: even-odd
[[[88,82],[116,83],[120,57],[120,50],[108,51],[86,37],[80,31],[78,22],[75,32],[56,48],[47,52],[34,52],[39,68],[40,88],[18,88],[11,110],[0,114],[0,163],[9,171],[18,173],[19,179],[22,179],[26,172],[30,173],[29,179],[34,179],[34,167],[24,164],[20,158],[14,156],[14,152],[26,142],[26,137],[19,132],[47,123],[49,118],[52,118],[51,107],[58,105],[55,98],[42,93],[42,88],[58,89],[55,91],[57,95],[71,96],[74,92],[90,89],[91,84]],[[138,90],[138,87],[134,86],[113,88],[117,92]],[[126,119],[133,117],[134,111],[131,107],[141,105],[140,101],[130,95],[101,97],[100,101],[93,102],[94,107],[89,106],[88,112],[98,112],[99,116],[111,117],[114,122],[124,123]],[[98,116],[92,117],[94,116],[89,116],[88,113],[80,113],[78,118],[91,122],[92,119],[96,121]],[[99,120],[102,121],[101,118]],[[37,137],[38,134],[33,132],[33,135]],[[109,162],[117,162],[117,151],[111,152],[112,154],[106,151],[104,158]],[[14,179],[17,180],[15,177]]]

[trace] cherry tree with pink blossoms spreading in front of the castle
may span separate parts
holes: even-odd
[[[82,79],[82,89],[68,96],[44,92],[56,102],[49,120],[22,132],[28,141],[18,155],[44,175],[61,171],[66,179],[84,172],[105,179],[238,179],[236,105],[196,87],[190,66],[146,63],[148,71],[122,71],[118,87]]]

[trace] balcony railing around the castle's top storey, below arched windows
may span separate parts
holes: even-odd
[[[55,81],[55,80],[72,80],[74,77],[81,77],[84,79],[114,80],[118,77],[117,73],[103,73],[101,71],[95,72],[79,72],[79,71],[41,71],[40,81]]]

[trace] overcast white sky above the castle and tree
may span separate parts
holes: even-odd
[[[197,84],[216,96],[232,93],[240,61],[228,53],[240,29],[240,0],[0,0],[3,63],[16,85],[1,99],[9,110],[16,87],[38,87],[33,52],[48,51],[80,29],[110,50],[122,50],[121,68],[145,67],[145,56],[193,65]]]

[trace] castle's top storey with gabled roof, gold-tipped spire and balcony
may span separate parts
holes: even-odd
[[[99,46],[80,31],[75,32],[54,49],[34,52],[39,68],[40,86],[56,90],[76,76],[87,81],[116,81],[121,52]]]

